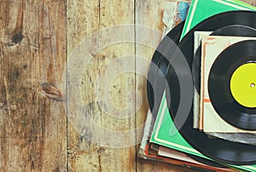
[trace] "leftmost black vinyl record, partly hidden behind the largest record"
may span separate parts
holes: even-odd
[[[175,26],[166,37],[172,39],[173,43],[178,43],[183,31],[184,21]],[[168,61],[158,51],[154,52],[149,69],[147,80],[148,105],[155,117],[159,110],[160,101],[164,90],[166,89],[165,81],[167,73]]]

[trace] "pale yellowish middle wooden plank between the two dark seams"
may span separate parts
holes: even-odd
[[[71,54],[86,36],[91,36],[94,32],[101,32],[102,29],[110,28],[111,26],[119,26],[123,24],[132,24],[134,20],[133,2],[118,1],[118,0],[75,0],[67,1],[67,42],[68,54]],[[107,35],[106,37],[112,37]],[[104,36],[103,36],[104,37]],[[122,40],[123,35],[118,36]],[[134,37],[133,28],[130,37]],[[101,37],[97,36],[96,46],[104,45]],[[131,116],[128,118],[119,118],[116,113],[117,109],[125,109],[125,107],[134,101],[134,98],[127,100],[127,93],[135,88],[134,72],[121,74],[120,67],[115,66],[116,60],[120,57],[131,54],[129,59],[123,60],[119,66],[131,71],[134,71],[134,43],[117,43],[108,45],[105,49],[99,52],[92,53],[93,58],[88,66],[84,66],[84,74],[81,80],[82,87],[81,95],[84,100],[84,106],[88,110],[93,121],[102,129],[111,131],[125,131],[135,127],[134,108],[132,106],[125,110],[125,114]],[[72,57],[70,57],[72,58]],[[90,58],[90,57],[87,57]],[[133,61],[133,65],[131,64]],[[104,74],[101,70],[110,72]],[[103,70],[104,71],[104,70]],[[120,74],[120,75],[119,75]],[[110,76],[116,76],[116,78]],[[97,84],[99,77],[107,77],[108,82]],[[97,88],[97,89],[96,89]],[[107,89],[106,89],[107,88]],[[96,90],[95,90],[96,89]],[[105,90],[101,92],[100,90]],[[96,95],[100,95],[100,99],[96,99]],[[110,101],[106,102],[110,97]],[[103,106],[102,106],[103,105]],[[73,108],[69,104],[68,108]],[[110,110],[114,109],[114,111]],[[68,165],[70,171],[135,171],[136,168],[136,150],[135,142],[132,146],[123,148],[109,148],[102,146],[102,142],[95,142],[91,139],[86,139],[86,136],[94,137],[98,135],[100,129],[93,129],[90,135],[86,133],[83,136],[77,131],[77,127],[72,120],[68,123]],[[114,138],[116,135],[109,135]],[[134,138],[127,137],[125,141],[132,141]],[[117,137],[117,142],[119,137]],[[84,163],[86,162],[86,163]]]

